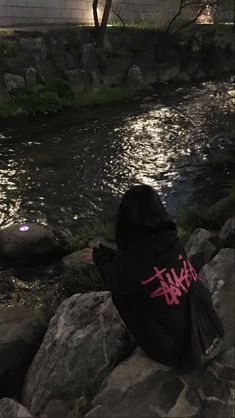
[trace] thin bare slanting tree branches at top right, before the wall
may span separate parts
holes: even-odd
[[[183,23],[179,27],[177,27],[174,32],[179,32],[180,30],[184,29],[185,27],[191,25],[192,23],[196,22],[198,17],[203,13],[203,11],[210,7],[213,8],[217,5],[218,0],[180,0],[179,8],[175,16],[171,19],[169,25],[167,26],[166,32],[169,32],[174,27],[177,20],[181,17],[182,12],[186,8],[195,9],[195,15],[192,19],[188,20],[187,22]]]

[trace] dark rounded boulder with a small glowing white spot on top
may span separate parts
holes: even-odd
[[[49,228],[38,224],[13,224],[0,230],[0,256],[12,266],[49,264],[62,250]]]

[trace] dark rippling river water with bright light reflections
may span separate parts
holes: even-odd
[[[132,184],[172,214],[235,179],[232,80],[164,87],[144,100],[0,126],[0,226],[76,228],[111,219]],[[103,215],[102,215],[103,213]]]

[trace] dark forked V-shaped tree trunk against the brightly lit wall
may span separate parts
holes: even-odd
[[[94,0],[92,3],[92,8],[93,8],[95,30],[96,30],[96,42],[97,42],[97,46],[102,48],[104,45],[104,37],[105,37],[105,32],[106,32],[106,28],[107,28],[107,24],[109,20],[112,0],[105,0],[104,11],[103,11],[101,22],[99,21],[99,16],[98,16],[98,5],[99,5],[99,0]]]

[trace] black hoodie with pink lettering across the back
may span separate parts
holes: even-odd
[[[113,302],[138,345],[155,361],[175,368],[190,359],[188,295],[197,273],[176,226],[135,235],[126,249],[104,246],[93,253]]]

